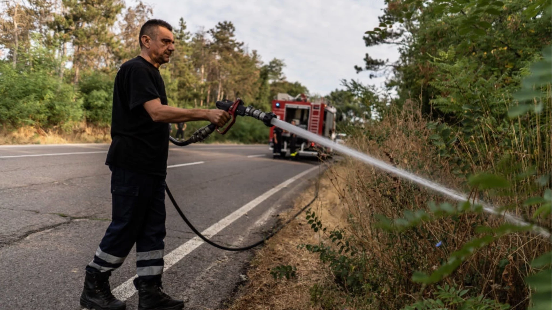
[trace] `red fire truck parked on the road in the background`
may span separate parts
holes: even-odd
[[[328,105],[323,98],[309,101],[304,94],[292,97],[288,94],[278,94],[277,99],[272,100],[272,112],[278,119],[291,123],[302,129],[314,132],[317,135],[335,140],[336,108]],[[273,157],[326,157],[331,149],[316,145],[300,137],[293,137],[289,132],[282,132],[282,141],[279,141],[280,152],[274,143],[274,129],[270,128],[270,149]],[[294,149],[293,149],[294,148]],[[295,151],[295,152],[291,152]]]

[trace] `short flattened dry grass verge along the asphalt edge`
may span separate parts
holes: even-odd
[[[315,186],[304,191],[295,201],[293,209],[280,214],[287,221],[302,206],[306,205],[315,193]],[[320,178],[320,195],[312,210],[317,212],[328,227],[347,225],[347,215],[339,207],[339,197],[332,190],[328,174]],[[299,244],[318,244],[321,238],[307,225],[305,213],[289,223],[282,231],[268,240],[259,250],[247,273],[246,286],[240,288],[238,297],[229,310],[305,310],[322,309],[311,302],[310,289],[313,285],[326,281],[331,275],[320,263],[318,255],[298,249]],[[278,265],[296,266],[297,276],[290,280],[274,280],[270,269]]]

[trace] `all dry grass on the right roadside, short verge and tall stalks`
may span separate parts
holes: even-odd
[[[453,166],[446,158],[440,158],[435,147],[427,143],[432,134],[420,112],[405,107],[396,115],[388,115],[383,121],[365,129],[362,135],[353,136],[348,143],[396,167],[449,188],[469,192],[465,178],[452,173]],[[544,147],[537,150],[539,154],[550,156],[551,137],[544,138],[546,143],[535,145]],[[498,145],[496,141],[487,141],[487,144],[490,147]],[[463,152],[462,148],[458,146],[458,151]],[[508,149],[493,149],[493,152],[498,151],[502,152],[499,154],[509,152]],[[492,162],[492,154],[487,150],[470,154],[470,157],[487,158],[489,162],[473,164],[471,172],[490,170],[500,174]],[[524,167],[531,165],[527,156],[518,160],[526,161]],[[549,159],[539,163],[537,169],[537,175],[549,172]],[[534,184],[535,178],[511,178],[516,189],[514,193],[474,190],[472,194],[497,206],[510,206],[511,212],[518,216],[530,217],[535,209],[523,206],[522,202],[529,195],[542,195],[544,190],[529,186]],[[436,290],[435,285],[422,286],[412,282],[413,272],[431,273],[447,261],[451,253],[481,236],[476,232],[476,227],[497,227],[503,223],[501,218],[487,214],[466,213],[423,222],[416,229],[388,233],[378,228],[376,215],[398,218],[404,215],[405,210],[427,210],[429,201],[440,203],[447,200],[351,159],[329,167],[320,184],[320,198],[313,209],[328,231],[335,227],[343,228],[344,234],[352,237],[355,247],[364,253],[365,259],[359,260],[357,256],[347,263],[351,264],[352,270],[362,268],[367,284],[363,287],[363,293],[352,295],[347,287],[336,281],[330,268],[320,263],[317,254],[297,249],[297,245],[305,243],[332,245],[327,233],[315,233],[310,225],[305,225],[306,220],[301,216],[259,250],[248,274],[250,282],[240,290],[236,302],[229,309],[398,309],[421,297],[431,298]],[[295,210],[309,201],[312,191],[301,196]],[[541,219],[540,225],[549,227],[550,223]],[[443,245],[437,248],[439,241]],[[439,284],[468,289],[471,296],[482,295],[509,303],[512,309],[524,309],[528,306],[530,292],[523,279],[535,272],[530,261],[550,248],[550,240],[542,237],[530,233],[508,233],[496,238],[487,247],[476,249]],[[273,280],[269,271],[278,265],[296,266],[298,276],[292,280]]]

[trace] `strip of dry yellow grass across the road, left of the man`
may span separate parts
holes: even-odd
[[[43,130],[40,127],[20,127],[15,130],[0,130],[0,145],[18,144],[63,144],[63,143],[109,143],[109,127],[79,124],[70,131],[61,129]]]

